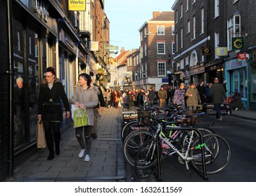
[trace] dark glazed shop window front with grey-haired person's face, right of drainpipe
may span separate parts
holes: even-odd
[[[46,66],[56,66],[58,25],[46,1],[13,3],[14,153],[34,144],[37,97]]]

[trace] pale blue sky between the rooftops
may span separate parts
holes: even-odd
[[[105,0],[105,13],[110,21],[110,45],[118,52],[139,49],[139,29],[153,18],[153,11],[173,11],[175,0]],[[113,50],[115,51],[115,50]]]

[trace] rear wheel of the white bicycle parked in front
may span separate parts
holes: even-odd
[[[218,134],[203,136],[203,144],[197,139],[191,148],[192,166],[203,172],[201,148],[204,148],[206,174],[216,174],[229,164],[231,148],[229,143]]]

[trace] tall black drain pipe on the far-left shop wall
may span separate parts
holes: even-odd
[[[14,141],[14,133],[13,133],[13,12],[12,12],[12,0],[6,1],[6,19],[7,19],[7,49],[8,49],[8,70],[6,73],[8,74],[8,96],[9,96],[9,133],[8,133],[8,156],[7,156],[7,167],[8,173],[6,176],[6,181],[14,181],[15,178],[13,176],[13,141]]]

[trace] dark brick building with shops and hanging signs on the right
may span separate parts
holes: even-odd
[[[255,110],[255,1],[177,0],[174,55],[176,79],[227,81],[244,109]]]

